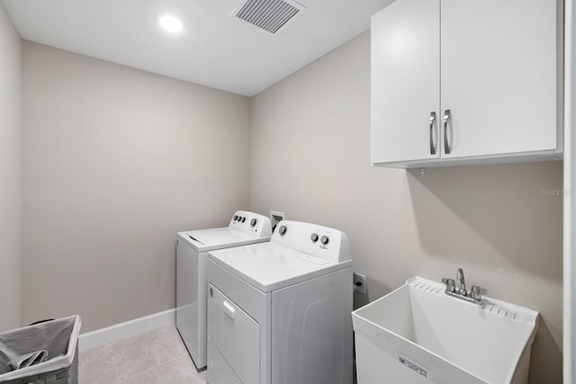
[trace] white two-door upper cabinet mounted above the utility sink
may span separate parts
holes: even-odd
[[[372,19],[372,162],[562,158],[555,0],[397,0]]]

